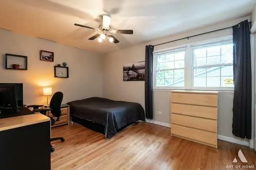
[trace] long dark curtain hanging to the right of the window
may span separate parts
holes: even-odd
[[[234,102],[232,133],[251,139],[252,134],[252,70],[250,26],[248,20],[233,27]]]

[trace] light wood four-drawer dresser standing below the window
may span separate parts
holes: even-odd
[[[217,148],[217,116],[217,91],[172,91],[172,136]]]

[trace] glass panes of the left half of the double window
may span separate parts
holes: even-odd
[[[184,86],[185,51],[157,56],[157,86]]]

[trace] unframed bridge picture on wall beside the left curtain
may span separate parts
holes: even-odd
[[[145,81],[145,61],[123,66],[123,81]]]

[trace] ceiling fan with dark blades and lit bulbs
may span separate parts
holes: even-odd
[[[74,24],[74,25],[99,31],[98,34],[95,34],[94,36],[90,37],[89,40],[94,40],[94,39],[98,38],[98,42],[100,42],[100,43],[106,39],[108,39],[109,42],[118,43],[119,42],[118,39],[113,34],[133,34],[133,30],[112,29],[110,26],[110,22],[111,22],[111,17],[109,17],[107,15],[103,15],[102,16],[102,25],[99,25],[99,28],[88,27],[88,26],[81,25],[81,24]]]

